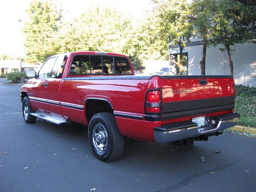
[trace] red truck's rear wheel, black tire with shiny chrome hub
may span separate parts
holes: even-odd
[[[88,139],[94,156],[104,162],[119,158],[124,149],[124,137],[112,113],[98,113],[92,117]]]

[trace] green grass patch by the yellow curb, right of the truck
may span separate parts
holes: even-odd
[[[235,111],[241,114],[238,125],[256,128],[256,96],[236,96]]]

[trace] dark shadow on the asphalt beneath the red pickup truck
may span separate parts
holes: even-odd
[[[87,126],[77,123],[58,126],[40,119],[35,124],[41,131],[50,132],[52,136],[60,137],[66,142],[78,142],[78,139],[82,138],[83,140],[78,145],[80,145],[80,148],[84,148],[85,154],[88,154],[88,151],[90,152]],[[158,166],[170,166],[170,164],[176,164],[175,162],[178,162],[179,166],[182,165],[182,162],[186,166],[188,164],[192,165],[193,162],[207,164],[209,162],[207,156],[209,156],[210,162],[214,162],[214,160],[219,161],[220,159],[218,158],[223,156],[221,149],[218,145],[216,146],[216,143],[218,143],[216,140],[221,139],[220,137],[222,136],[212,136],[207,142],[195,141],[194,145],[190,146],[180,145],[174,142],[162,144],[126,138],[122,156],[118,160],[111,162],[111,164],[119,164],[127,161],[139,161],[142,164],[147,162],[147,164],[158,164]],[[220,152],[220,154],[216,153],[216,151]],[[90,153],[93,156],[92,152]],[[97,159],[95,158],[95,160]]]

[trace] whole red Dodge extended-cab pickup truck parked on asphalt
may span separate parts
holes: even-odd
[[[51,56],[34,77],[20,92],[25,122],[88,126],[92,152],[102,161],[120,157],[124,138],[193,144],[240,118],[232,76],[135,76],[122,54]]]

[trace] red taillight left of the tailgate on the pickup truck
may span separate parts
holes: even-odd
[[[161,92],[159,90],[149,91],[146,97],[146,112],[160,112]]]

